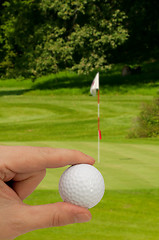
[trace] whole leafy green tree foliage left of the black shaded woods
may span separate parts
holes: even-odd
[[[1,72],[37,77],[61,69],[104,69],[128,37],[126,15],[108,1],[5,1]]]

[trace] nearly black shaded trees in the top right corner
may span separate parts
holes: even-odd
[[[158,58],[158,0],[119,0],[117,4],[127,15],[124,27],[128,30],[129,38],[114,51],[112,61],[132,62],[151,57]]]

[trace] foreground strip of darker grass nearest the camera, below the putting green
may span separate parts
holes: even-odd
[[[91,210],[93,218],[89,223],[37,230],[17,239],[158,240],[158,194],[158,190],[108,190],[100,204]],[[58,191],[38,190],[27,202],[59,200]]]

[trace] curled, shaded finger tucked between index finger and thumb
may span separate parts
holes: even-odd
[[[13,178],[12,189],[17,193],[21,200],[29,196],[45,177],[46,171],[29,174],[17,174]]]

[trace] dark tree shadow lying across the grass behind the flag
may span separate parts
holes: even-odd
[[[142,65],[142,72],[130,76],[121,76],[123,66],[114,65],[111,70],[100,71],[100,87],[107,89],[117,89],[119,92],[126,91],[127,87],[140,87],[150,83],[151,87],[159,86],[159,62]],[[5,95],[22,95],[29,91],[36,90],[59,90],[59,89],[80,89],[82,94],[87,93],[97,71],[89,75],[78,75],[76,73],[61,72],[36,79],[28,89],[6,90],[0,89],[0,97]],[[26,80],[27,81],[27,80]],[[14,83],[13,83],[14,84]],[[13,85],[14,86],[14,85]],[[148,85],[145,85],[148,87]]]

